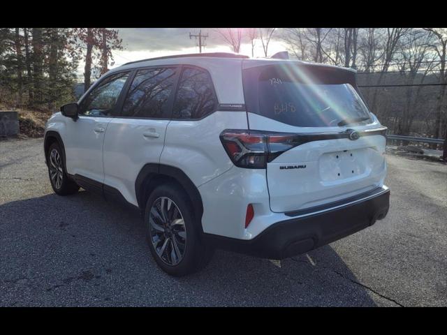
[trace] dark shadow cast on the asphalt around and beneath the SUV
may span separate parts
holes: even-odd
[[[330,246],[283,261],[216,251],[156,267],[138,211],[80,191],[0,205],[1,306],[376,306]]]

